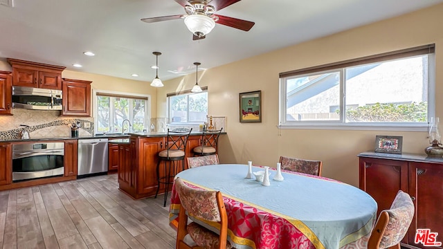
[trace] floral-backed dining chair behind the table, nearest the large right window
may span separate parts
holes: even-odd
[[[320,160],[306,160],[300,158],[291,158],[288,156],[280,156],[282,169],[292,172],[300,172],[321,176],[321,167],[323,163]]]

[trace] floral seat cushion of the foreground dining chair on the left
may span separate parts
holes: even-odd
[[[192,240],[194,240],[198,246],[208,249],[219,249],[219,235],[215,232],[211,232],[195,222],[188,224],[186,229]],[[226,241],[226,249],[230,248],[232,247],[229,241]]]

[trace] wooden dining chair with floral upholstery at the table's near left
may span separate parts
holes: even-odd
[[[174,186],[181,203],[176,249],[232,248],[227,240],[228,216],[221,192],[188,187],[181,178],[175,180]],[[188,215],[201,221],[219,223],[220,234],[216,234],[195,222],[188,224]]]

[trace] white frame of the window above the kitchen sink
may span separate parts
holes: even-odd
[[[98,108],[97,108],[97,95],[106,95],[109,97],[120,97],[120,98],[133,98],[133,99],[146,99],[145,103],[145,127],[144,129],[147,130],[148,127],[151,126],[150,120],[151,120],[151,95],[147,94],[138,94],[138,93],[126,93],[126,92],[118,92],[118,91],[107,91],[107,90],[99,90],[99,89],[93,89],[92,90],[92,108],[93,108],[93,118],[94,118],[94,133],[100,134],[101,131],[98,131],[98,121],[96,118],[98,118]],[[114,109],[113,104],[110,103],[109,111],[112,111]],[[131,116],[131,120],[134,118],[132,117],[132,113],[129,113]],[[112,127],[111,127],[112,128]],[[114,132],[109,132],[108,134],[113,134]],[[119,132],[117,132],[119,133]],[[114,133],[116,134],[116,133]]]

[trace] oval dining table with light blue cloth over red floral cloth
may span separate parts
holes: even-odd
[[[264,168],[253,166],[252,171]],[[341,181],[285,170],[283,181],[274,181],[274,168],[269,168],[269,186],[247,174],[248,165],[220,164],[186,169],[176,178],[221,192],[234,248],[367,248],[377,219],[377,203],[369,194]],[[177,224],[179,210],[173,186],[171,225]],[[216,223],[193,221],[219,231]]]

